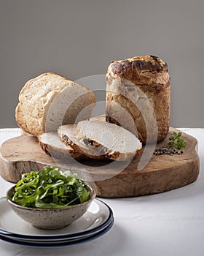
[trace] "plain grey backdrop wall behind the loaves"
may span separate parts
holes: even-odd
[[[105,74],[112,59],[168,62],[173,127],[204,127],[203,0],[0,0],[2,127],[17,127],[20,89],[43,72]],[[98,88],[98,89],[105,89]]]

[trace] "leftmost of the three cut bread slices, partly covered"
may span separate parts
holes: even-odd
[[[57,132],[44,132],[38,137],[39,145],[42,150],[56,159],[68,159],[73,157],[77,160],[86,159],[82,154],[74,151],[71,146],[66,146],[61,142]]]

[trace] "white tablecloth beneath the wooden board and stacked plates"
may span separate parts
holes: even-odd
[[[114,212],[108,233],[85,244],[32,248],[0,240],[0,255],[204,255],[204,129],[182,129],[198,140],[200,175],[192,184],[157,195],[102,199]],[[0,129],[0,143],[20,129]],[[12,184],[0,177],[0,197]]]

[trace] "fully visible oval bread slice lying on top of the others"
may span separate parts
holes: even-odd
[[[129,161],[137,157],[142,144],[136,135],[117,124],[104,121],[80,121],[74,132],[82,145],[95,148],[108,159]]]

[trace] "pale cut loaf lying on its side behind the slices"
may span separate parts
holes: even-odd
[[[28,80],[20,91],[15,116],[24,132],[37,137],[90,118],[94,106],[93,91],[48,72]]]

